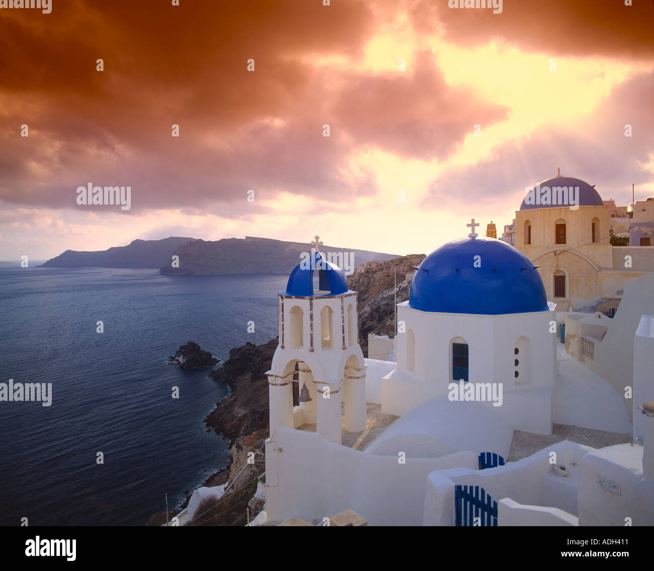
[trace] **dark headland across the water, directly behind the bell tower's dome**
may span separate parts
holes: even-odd
[[[179,267],[167,259],[160,272],[175,276],[217,276],[221,274],[288,274],[301,261],[301,253],[311,246],[301,242],[283,242],[269,238],[224,238],[216,242],[196,240],[175,249]],[[390,260],[395,256],[360,249],[321,246],[320,251],[342,253],[336,262],[347,272],[360,263]]]

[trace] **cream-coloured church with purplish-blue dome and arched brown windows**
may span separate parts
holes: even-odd
[[[558,310],[619,301],[627,280],[654,271],[654,248],[611,246],[611,212],[594,186],[559,172],[515,213],[515,248],[538,266]]]

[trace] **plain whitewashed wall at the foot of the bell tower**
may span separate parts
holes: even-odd
[[[427,474],[454,466],[476,468],[477,454],[400,464],[284,427],[266,445],[267,517],[312,521],[353,509],[369,525],[422,525]]]

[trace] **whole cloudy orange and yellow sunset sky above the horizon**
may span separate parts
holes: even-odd
[[[557,168],[654,196],[652,0],[173,1],[0,8],[0,259],[167,236],[429,253],[472,218],[501,232]],[[129,209],[78,204],[88,184]]]

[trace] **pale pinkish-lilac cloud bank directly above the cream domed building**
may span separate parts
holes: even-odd
[[[461,214],[508,203],[517,210],[525,188],[553,177],[559,167],[563,175],[596,185],[605,200],[630,197],[632,182],[654,181],[647,168],[654,158],[652,92],[654,73],[636,75],[581,126],[545,126],[494,147],[472,166],[445,172],[430,184],[422,208]],[[625,124],[632,124],[631,137],[625,137]]]

